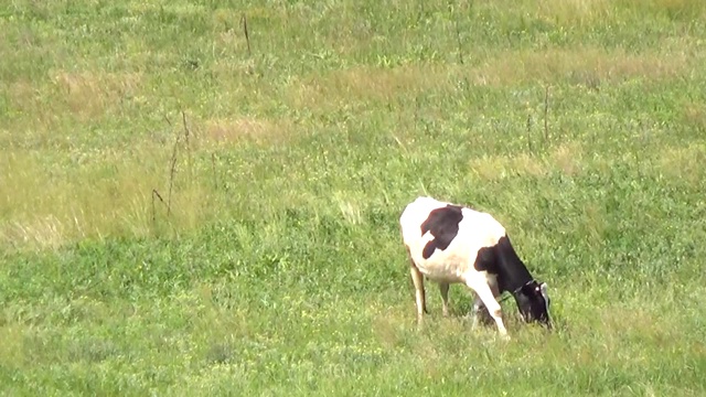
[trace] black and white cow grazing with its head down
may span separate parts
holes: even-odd
[[[443,315],[449,313],[449,285],[460,282],[474,292],[474,324],[480,311],[486,309],[500,333],[507,336],[496,297],[509,291],[525,322],[552,326],[546,283],[532,277],[505,228],[490,214],[418,197],[405,207],[399,224],[410,258],[418,321],[427,312],[426,277],[439,285]]]

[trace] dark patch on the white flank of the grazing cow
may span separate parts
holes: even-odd
[[[436,208],[429,213],[427,219],[421,224],[421,235],[427,232],[434,236],[421,251],[425,259],[429,259],[434,251],[438,249],[447,249],[456,235],[459,233],[459,223],[463,219],[463,207],[459,205],[447,205]]]

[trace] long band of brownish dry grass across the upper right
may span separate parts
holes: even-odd
[[[673,50],[643,54],[598,47],[522,50],[496,54],[475,67],[449,64],[394,68],[357,66],[293,79],[288,99],[295,107],[325,109],[352,100],[391,100],[425,90],[445,90],[462,79],[480,86],[568,81],[597,88],[605,83],[630,78],[672,78],[693,67],[683,45],[668,44],[666,47]]]

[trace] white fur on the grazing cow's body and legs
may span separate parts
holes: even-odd
[[[448,204],[452,203],[428,196],[418,197],[405,207],[399,217],[403,240],[411,260],[410,275],[415,283],[418,319],[421,321],[422,313],[426,311],[421,277],[424,275],[439,285],[445,315],[448,315],[449,285],[463,283],[475,294],[474,309],[478,311],[482,302],[495,320],[500,333],[506,336],[507,331],[503,324],[500,303],[495,299],[500,294],[495,275],[473,268],[479,249],[493,246],[505,236],[505,228],[498,221],[488,213],[463,207],[461,210],[463,219],[459,224],[458,235],[449,247],[445,250],[435,250],[428,259],[422,257],[424,247],[434,239],[434,236],[429,232],[421,235],[420,226],[431,211]]]

